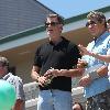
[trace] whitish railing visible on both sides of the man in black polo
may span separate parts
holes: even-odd
[[[23,86],[25,92],[25,108],[26,110],[36,110],[37,106],[37,95],[38,95],[38,86],[36,81],[25,84]],[[73,100],[85,102],[85,98],[82,97],[84,88],[77,87],[72,89]]]

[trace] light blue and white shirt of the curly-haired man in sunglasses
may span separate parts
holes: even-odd
[[[106,32],[96,41],[92,41],[88,44],[87,50],[97,54],[107,55],[108,50],[110,48],[110,33]],[[92,56],[85,55],[82,59],[87,61],[88,67],[94,67],[96,65],[102,64],[107,65],[105,62],[99,61]],[[101,94],[110,89],[110,81],[108,76],[97,78],[91,81],[90,85],[85,87],[85,97],[89,98]]]

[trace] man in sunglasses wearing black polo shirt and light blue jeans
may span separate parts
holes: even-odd
[[[77,45],[61,35],[59,15],[50,14],[45,26],[50,40],[37,47],[31,74],[40,86],[37,110],[72,110],[72,76],[82,73],[73,67],[80,54]]]

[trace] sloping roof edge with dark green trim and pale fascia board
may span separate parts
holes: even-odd
[[[110,16],[110,7],[102,8],[99,11],[103,12],[107,18]],[[74,33],[77,30],[85,29],[87,14],[88,13],[66,19],[63,33]],[[41,41],[44,38],[47,38],[47,35],[44,25],[41,25],[38,28],[0,38],[0,52],[34,43],[35,41]]]

